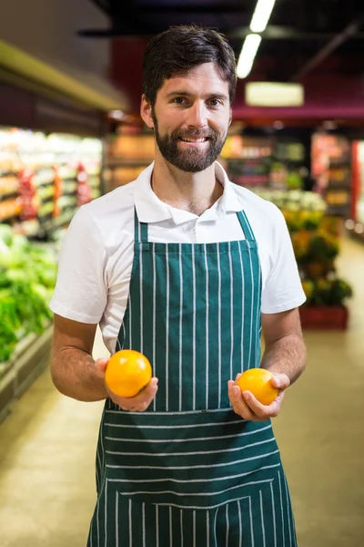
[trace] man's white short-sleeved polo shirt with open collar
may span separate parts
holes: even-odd
[[[126,310],[134,258],[134,208],[155,243],[217,243],[244,239],[237,212],[244,210],[258,242],[263,314],[277,314],[306,300],[286,222],[269,201],[228,181],[216,162],[222,196],[201,216],[160,201],[151,188],[152,163],[136,181],[80,208],[59,257],[57,315],[99,324],[113,353]]]

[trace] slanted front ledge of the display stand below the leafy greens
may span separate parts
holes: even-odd
[[[53,325],[42,335],[31,334],[15,347],[9,361],[0,363],[0,422],[10,412],[12,402],[20,397],[45,369],[50,357]]]

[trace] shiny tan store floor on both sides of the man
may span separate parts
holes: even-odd
[[[274,422],[299,547],[364,545],[364,245],[344,242],[339,267],[355,286],[349,331],[305,334],[308,369]],[[94,353],[107,355],[99,336]],[[59,395],[48,371],[15,403],[0,425],[1,547],[85,547],[101,408]]]

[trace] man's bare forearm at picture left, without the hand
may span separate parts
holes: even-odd
[[[104,375],[85,351],[66,347],[53,352],[51,373],[53,382],[63,395],[79,401],[98,401],[107,396]]]

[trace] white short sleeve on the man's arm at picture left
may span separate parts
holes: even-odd
[[[81,207],[62,244],[51,310],[80,323],[99,323],[107,302],[105,268],[106,248],[101,233],[89,212]]]

